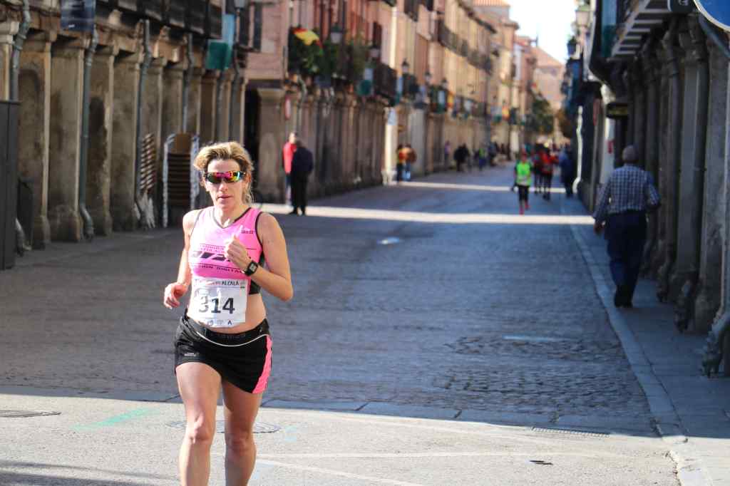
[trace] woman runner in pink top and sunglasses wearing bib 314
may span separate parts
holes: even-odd
[[[293,296],[283,231],[252,207],[253,161],[236,142],[204,147],[195,159],[213,205],[183,217],[185,247],[168,309],[191,296],[174,336],[174,371],[185,405],[180,447],[184,486],[207,485],[215,416],[223,390],[226,484],[246,485],[256,460],[253,423],[272,369],[272,338],[261,291]]]

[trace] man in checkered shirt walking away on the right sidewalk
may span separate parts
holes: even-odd
[[[601,193],[593,229],[606,228],[611,276],[616,284],[613,304],[632,307],[646,242],[646,212],[659,207],[653,177],[640,169],[633,145],[623,150],[623,167],[616,169]]]

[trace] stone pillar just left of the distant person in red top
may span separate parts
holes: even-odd
[[[258,189],[267,198],[284,201],[284,171],[281,165],[281,141],[284,139],[282,101],[284,90],[279,88],[258,88],[261,98],[258,126]]]

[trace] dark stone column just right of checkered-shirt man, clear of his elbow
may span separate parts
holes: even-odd
[[[677,22],[677,20],[675,20]],[[677,251],[677,205],[678,177],[680,171],[680,138],[682,134],[682,84],[680,78],[680,48],[677,46],[676,28],[667,31],[662,39],[664,66],[666,69],[666,132],[661,166],[662,209],[665,220],[664,258],[657,272],[657,297],[660,301],[674,301],[676,294],[670,293],[669,279],[675,264]]]

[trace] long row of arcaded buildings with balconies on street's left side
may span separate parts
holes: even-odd
[[[69,5],[0,1],[20,177],[0,211],[20,251],[179,224],[206,202],[190,163],[211,142],[244,144],[258,193],[283,201],[290,131],[315,155],[309,190],[322,196],[388,182],[399,144],[418,154],[414,175],[448,169],[447,141],[505,138],[493,104],[525,112],[517,26],[478,1]]]

